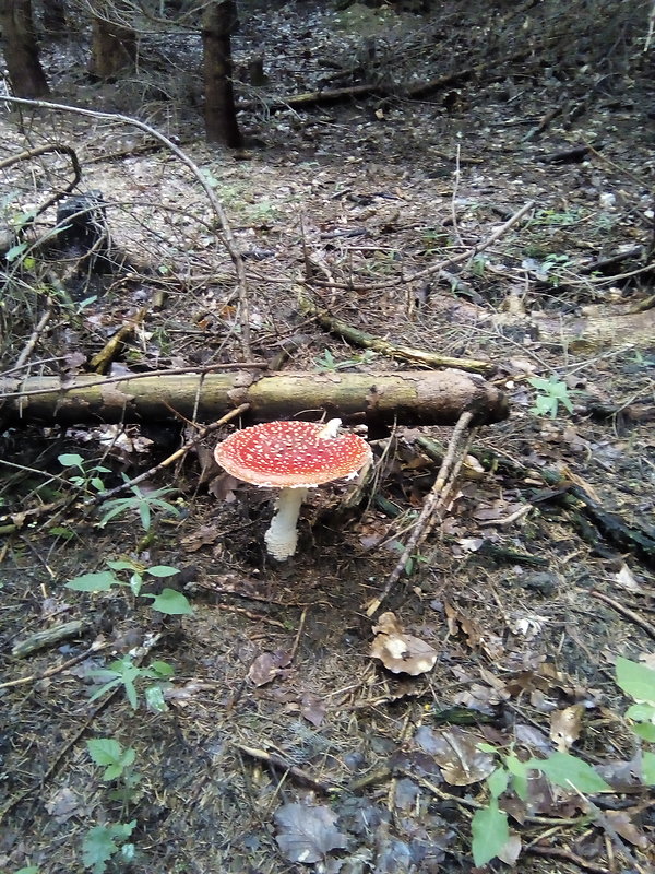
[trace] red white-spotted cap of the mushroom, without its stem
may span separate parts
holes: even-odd
[[[214,458],[238,480],[274,488],[308,488],[354,476],[371,460],[371,449],[356,434],[326,436],[313,422],[265,422],[235,432]]]

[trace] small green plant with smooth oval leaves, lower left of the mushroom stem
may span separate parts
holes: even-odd
[[[83,574],[81,577],[74,577],[66,583],[67,589],[72,589],[75,592],[108,592],[114,586],[128,587],[135,598],[152,598],[153,610],[158,610],[160,613],[166,613],[170,616],[180,616],[186,613],[192,613],[193,609],[189,603],[189,599],[181,592],[175,589],[163,589],[159,594],[152,594],[151,592],[142,592],[144,575],[164,579],[179,574],[176,567],[169,565],[153,565],[146,567],[145,565],[133,562],[131,559],[108,560],[106,563],[109,570],[99,570],[94,574]],[[129,571],[129,580],[121,580],[117,574]]]

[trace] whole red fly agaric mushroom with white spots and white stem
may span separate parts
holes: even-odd
[[[366,440],[340,434],[341,418],[266,422],[231,434],[214,458],[231,476],[252,485],[279,488],[276,512],[264,535],[269,554],[284,562],[296,552],[296,523],[308,488],[353,479],[372,460]]]

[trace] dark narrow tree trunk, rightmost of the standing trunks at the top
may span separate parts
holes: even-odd
[[[235,0],[210,0],[202,16],[205,133],[210,142],[230,149],[243,145],[233,90],[230,34],[236,22]]]

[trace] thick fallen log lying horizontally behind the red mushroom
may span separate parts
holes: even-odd
[[[265,422],[322,412],[348,424],[453,425],[471,412],[476,425],[507,418],[502,391],[462,370],[402,373],[175,374],[102,378],[78,376],[0,379],[2,424],[153,422],[176,413],[200,422],[235,406],[250,405],[246,418]]]

